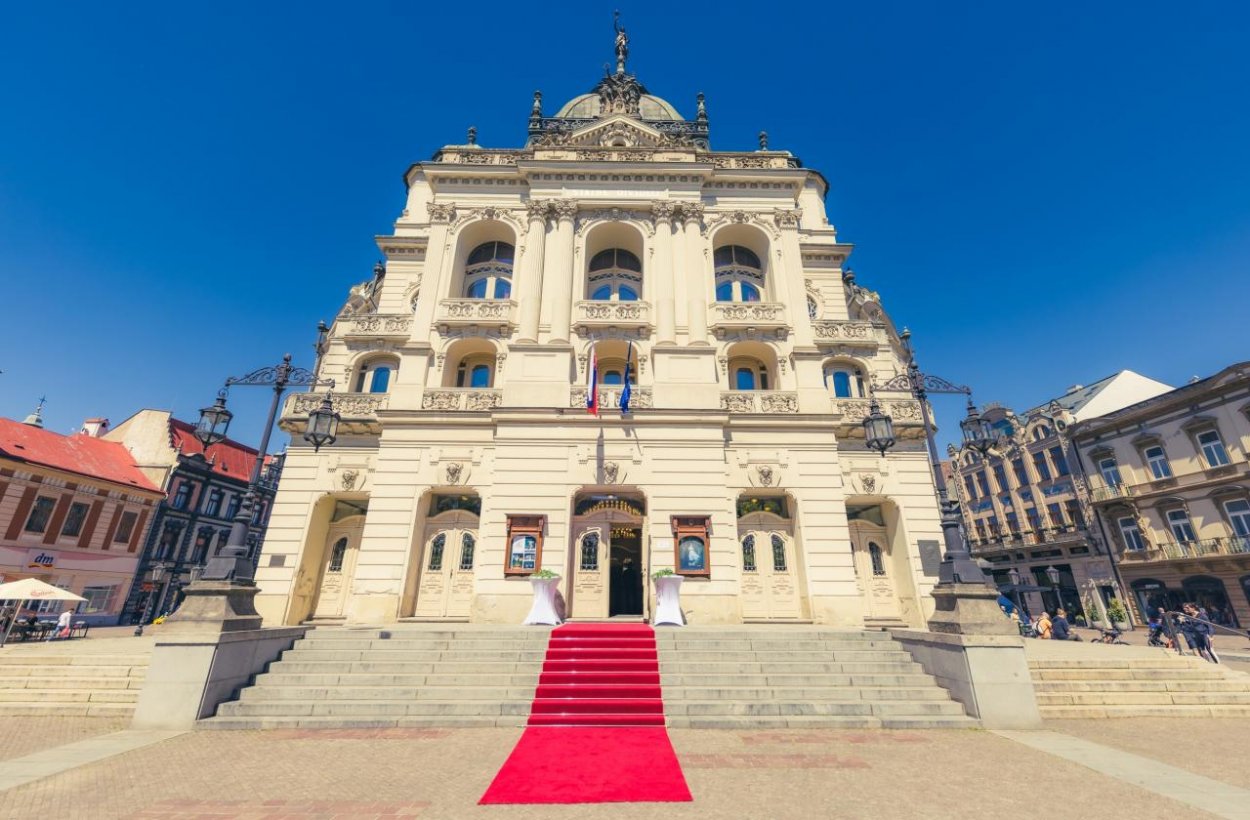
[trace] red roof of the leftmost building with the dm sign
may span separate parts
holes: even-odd
[[[89,435],[61,435],[0,419],[0,456],[74,472],[136,490],[160,492],[124,445]]]

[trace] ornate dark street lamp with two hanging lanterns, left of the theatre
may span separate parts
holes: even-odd
[[[232,584],[250,584],[252,580],[251,559],[248,558],[248,529],[251,522],[252,510],[259,500],[260,471],[264,466],[265,454],[269,451],[269,436],[274,431],[274,421],[278,419],[278,408],[282,399],[282,392],[290,385],[334,388],[332,379],[318,379],[315,374],[304,368],[291,365],[291,355],[282,356],[282,362],[274,368],[261,368],[246,376],[226,379],[226,389],[235,385],[242,386],[271,386],[274,398],[269,402],[269,418],[265,421],[264,432],[260,436],[260,446],[256,450],[256,462],[251,468],[251,476],[248,480],[248,491],[242,496],[242,502],[235,512],[230,525],[230,538],[225,546],[218,548],[216,554],[204,568],[201,580],[228,581]],[[195,438],[204,445],[204,452],[209,448],[226,438],[230,420],[234,414],[226,410],[226,389],[218,392],[218,399],[211,408],[200,410],[200,424],[195,429]],[[304,438],[312,442],[314,449],[332,444],[338,436],[339,414],[334,411],[334,405],[328,391],[321,406],[309,414],[308,431]]]

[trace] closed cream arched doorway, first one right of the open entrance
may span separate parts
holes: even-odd
[[[742,620],[802,618],[802,582],[786,496],[738,500]]]

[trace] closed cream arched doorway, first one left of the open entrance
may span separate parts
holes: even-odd
[[[426,519],[412,614],[466,620],[472,606],[476,560],[476,508],[449,509]]]

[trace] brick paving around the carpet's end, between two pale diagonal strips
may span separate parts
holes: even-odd
[[[1092,722],[1090,731],[1106,722]],[[670,734],[695,796],[691,804],[478,806],[519,729],[201,731],[0,792],[0,816],[1051,820],[1056,811],[1209,816],[984,731]]]

